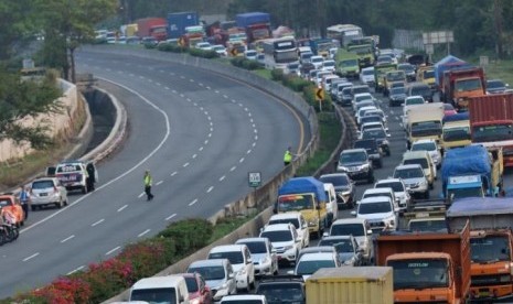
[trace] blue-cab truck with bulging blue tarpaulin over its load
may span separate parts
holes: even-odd
[[[502,150],[469,145],[447,151],[441,165],[442,195],[452,202],[461,197],[496,196],[503,188]]]

